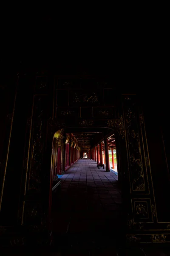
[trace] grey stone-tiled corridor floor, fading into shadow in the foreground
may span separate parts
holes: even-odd
[[[94,160],[81,159],[60,179],[61,191],[53,196],[53,244],[84,250],[115,247],[122,207],[118,177],[98,169]]]

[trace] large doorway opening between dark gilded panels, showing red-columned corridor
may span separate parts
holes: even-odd
[[[122,194],[118,172],[110,168],[111,157],[117,162],[116,139],[112,129],[100,127],[65,128],[54,135],[51,163],[61,185],[52,194],[54,244],[68,246],[65,237],[73,247],[119,242]]]

